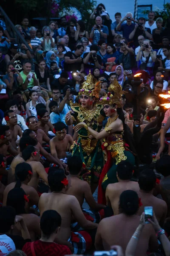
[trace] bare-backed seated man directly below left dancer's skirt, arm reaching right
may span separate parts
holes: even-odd
[[[113,215],[113,212],[111,212],[110,216],[105,216],[103,208],[106,206],[103,204],[97,204],[91,193],[91,187],[88,182],[79,179],[79,174],[82,172],[82,160],[80,157],[73,156],[68,158],[68,171],[70,174],[69,178],[71,179],[71,186],[69,186],[66,194],[74,195],[79,201],[81,208],[84,199],[86,200],[90,209],[82,209],[82,211],[89,221],[99,223],[103,217],[110,217]],[[78,224],[74,223],[71,227],[73,228],[73,231],[80,230]]]

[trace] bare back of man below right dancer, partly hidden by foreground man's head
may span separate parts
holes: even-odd
[[[139,184],[136,181],[121,180],[117,174],[118,183],[108,184],[106,188],[106,202],[112,207],[114,215],[119,214],[119,198],[123,191],[133,190],[139,193]]]

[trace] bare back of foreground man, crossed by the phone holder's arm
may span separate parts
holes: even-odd
[[[122,247],[124,253],[130,238],[139,226],[140,216],[120,213],[116,216],[104,218],[99,223],[95,237],[96,250],[110,250],[113,244]],[[122,239],[123,237],[123,239]],[[158,241],[151,225],[145,225],[136,248],[137,256],[144,256],[148,250],[158,250]]]

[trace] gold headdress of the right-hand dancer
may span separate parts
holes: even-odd
[[[114,79],[113,84],[110,84],[108,87],[108,94],[102,98],[100,98],[100,102],[102,104],[113,105],[116,104],[118,108],[121,107],[121,97],[124,94],[122,91],[121,85],[118,83],[116,79]]]

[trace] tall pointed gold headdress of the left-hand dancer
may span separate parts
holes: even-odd
[[[87,80],[82,83],[82,89],[79,90],[79,95],[85,94],[91,97],[99,98],[99,92],[101,90],[101,82],[97,82],[97,79],[91,75],[91,70],[87,76]]]

